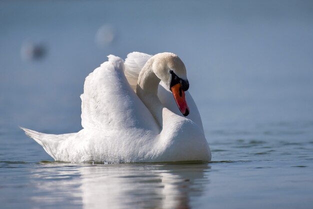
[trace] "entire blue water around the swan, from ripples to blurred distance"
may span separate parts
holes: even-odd
[[[312,208],[312,25],[305,0],[0,1],[0,208]],[[18,128],[81,129],[84,77],[131,51],[184,61],[211,162],[54,162]]]

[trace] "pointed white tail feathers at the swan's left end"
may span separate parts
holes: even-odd
[[[61,136],[68,135],[68,134],[55,135],[55,134],[40,133],[40,132],[30,130],[24,127],[20,127],[20,129],[25,131],[25,134],[27,136],[34,139],[38,144],[40,144],[43,147],[43,149],[55,160],[57,160],[56,152],[57,152],[57,147],[59,145],[59,142],[65,139],[65,137],[61,137]]]

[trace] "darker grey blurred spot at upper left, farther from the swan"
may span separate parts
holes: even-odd
[[[31,41],[24,41],[20,48],[20,55],[22,60],[38,60],[46,55],[47,49],[44,43],[34,43]]]

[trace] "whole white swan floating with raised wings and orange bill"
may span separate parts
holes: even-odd
[[[60,135],[22,129],[60,161],[209,161],[200,115],[185,92],[188,86],[185,66],[173,53],[132,52],[125,63],[109,55],[85,79],[83,129]]]

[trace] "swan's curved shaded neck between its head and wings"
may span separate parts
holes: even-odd
[[[153,60],[150,58],[141,69],[138,76],[136,94],[150,110],[159,127],[162,128],[162,109],[164,106],[157,96],[160,79],[153,72],[152,63]]]

